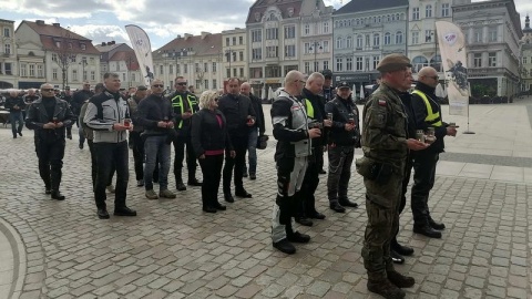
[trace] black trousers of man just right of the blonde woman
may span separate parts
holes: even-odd
[[[236,156],[232,158],[229,155],[225,156],[224,165],[224,194],[231,194],[231,178],[233,169],[235,172],[235,193],[244,190],[244,165],[246,164],[247,136],[231,136],[233,147]]]

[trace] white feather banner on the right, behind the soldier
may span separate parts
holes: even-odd
[[[449,114],[469,116],[466,39],[460,28],[450,22],[437,21],[436,30],[448,83]]]

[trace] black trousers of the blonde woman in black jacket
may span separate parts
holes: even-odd
[[[222,179],[222,165],[224,164],[224,155],[205,156],[205,158],[200,158],[198,162],[203,172],[203,207],[214,207],[219,203],[218,188],[219,181]]]

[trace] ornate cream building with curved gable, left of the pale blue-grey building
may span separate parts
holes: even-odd
[[[323,0],[257,0],[246,20],[249,83],[275,90],[291,70],[310,73],[330,65],[331,7]]]

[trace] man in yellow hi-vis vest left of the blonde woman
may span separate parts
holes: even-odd
[[[175,159],[174,159],[174,175],[177,190],[186,190],[183,184],[182,169],[183,159],[185,158],[186,145],[186,167],[188,169],[190,186],[201,186],[196,178],[196,155],[191,143],[191,117],[200,110],[197,105],[197,97],[186,90],[186,79],[177,76],[175,79],[175,92],[168,96],[172,102],[172,107],[175,115],[175,131],[177,135],[174,143]]]

